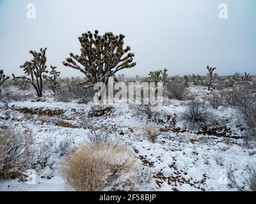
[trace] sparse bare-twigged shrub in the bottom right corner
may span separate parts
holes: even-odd
[[[228,170],[228,179],[233,187],[239,191],[256,191],[256,165],[248,164],[245,166],[245,175],[241,175],[243,179],[244,186],[241,186],[237,183],[237,180],[234,176],[234,172]]]

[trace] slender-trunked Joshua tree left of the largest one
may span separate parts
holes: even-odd
[[[33,85],[36,90],[38,97],[42,97],[43,92],[43,73],[47,73],[46,70],[46,52],[47,48],[41,48],[40,52],[30,50],[29,53],[33,55],[33,59],[29,62],[26,61],[20,68],[23,68],[24,73],[29,76],[29,82]],[[25,76],[23,76],[24,78]]]

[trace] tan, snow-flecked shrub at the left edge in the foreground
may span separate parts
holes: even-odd
[[[9,179],[22,175],[33,160],[31,131],[16,133],[8,128],[0,134],[0,178]]]

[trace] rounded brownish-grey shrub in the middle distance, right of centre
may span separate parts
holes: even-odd
[[[170,81],[166,83],[166,94],[168,98],[183,100],[186,92],[184,82]]]

